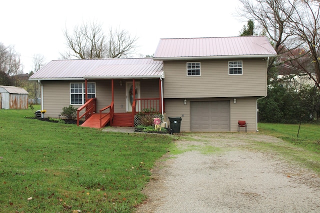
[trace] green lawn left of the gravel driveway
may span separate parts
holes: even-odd
[[[31,110],[0,110],[0,212],[132,212],[145,199],[141,189],[154,162],[173,146],[168,135],[102,132],[30,116]]]

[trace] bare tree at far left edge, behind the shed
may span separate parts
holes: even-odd
[[[0,43],[0,84],[15,86],[13,76],[22,73],[20,55],[12,45]]]

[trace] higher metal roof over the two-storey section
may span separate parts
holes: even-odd
[[[275,57],[265,36],[160,39],[154,60]]]

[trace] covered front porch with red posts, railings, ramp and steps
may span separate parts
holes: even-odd
[[[84,127],[134,127],[137,124],[136,114],[148,110],[156,111],[163,116],[162,75],[131,79],[98,78],[100,83],[96,86],[96,97],[88,98],[87,83],[95,80],[97,81],[94,77],[85,78],[85,104],[77,109],[78,126],[79,121],[84,120],[81,124]],[[103,92],[99,88],[102,87],[100,85],[104,85]]]

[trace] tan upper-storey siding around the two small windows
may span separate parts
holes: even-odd
[[[197,61],[200,62],[200,76],[186,75],[186,62],[191,61],[165,61],[164,98],[266,95],[265,60],[242,59],[242,75],[229,75],[228,61]]]

